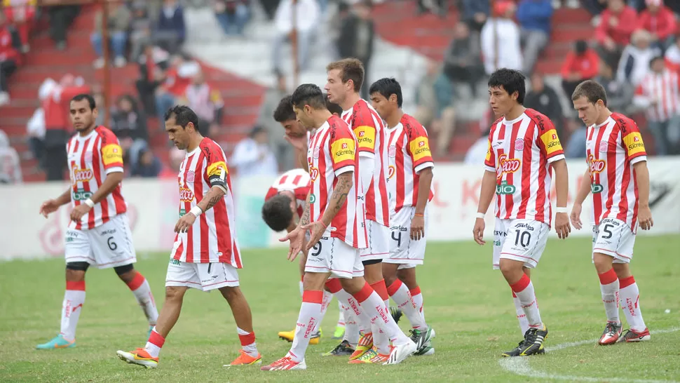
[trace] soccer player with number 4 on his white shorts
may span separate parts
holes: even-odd
[[[387,123],[390,198],[390,255],[383,260],[383,276],[390,297],[412,325],[416,355],[434,354],[434,331],[423,315],[423,296],[416,282],[416,265],[423,264],[427,237],[428,201],[432,169],[428,132],[402,111],[402,88],[395,79],[380,79],[369,88],[371,103]]]

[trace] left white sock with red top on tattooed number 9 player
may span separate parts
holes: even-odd
[[[288,351],[288,355],[293,361],[304,361],[304,354],[309,346],[309,340],[311,340],[316,323],[322,320],[321,302],[323,302],[322,291],[307,290],[302,294],[302,305],[295,326],[295,336],[290,351]]]

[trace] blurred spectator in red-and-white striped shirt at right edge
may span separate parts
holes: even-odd
[[[633,102],[645,109],[658,156],[679,154],[680,76],[666,68],[662,56],[653,58],[649,72],[635,90]]]

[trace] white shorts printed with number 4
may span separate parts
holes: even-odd
[[[426,238],[428,237],[428,209],[425,208],[425,238],[418,241],[411,239],[411,220],[416,213],[415,206],[404,206],[397,213],[390,217],[390,231],[392,240],[390,246],[390,256],[383,259],[385,263],[397,263],[416,267],[423,264],[425,259]],[[408,269],[409,267],[400,266],[398,269]]]

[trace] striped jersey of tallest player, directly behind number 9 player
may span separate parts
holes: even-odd
[[[373,157],[375,168],[373,181],[364,185],[366,196],[366,219],[390,226],[389,199],[387,194],[387,137],[383,120],[365,100],[342,112],[342,119],[352,128],[359,142],[359,156]]]

